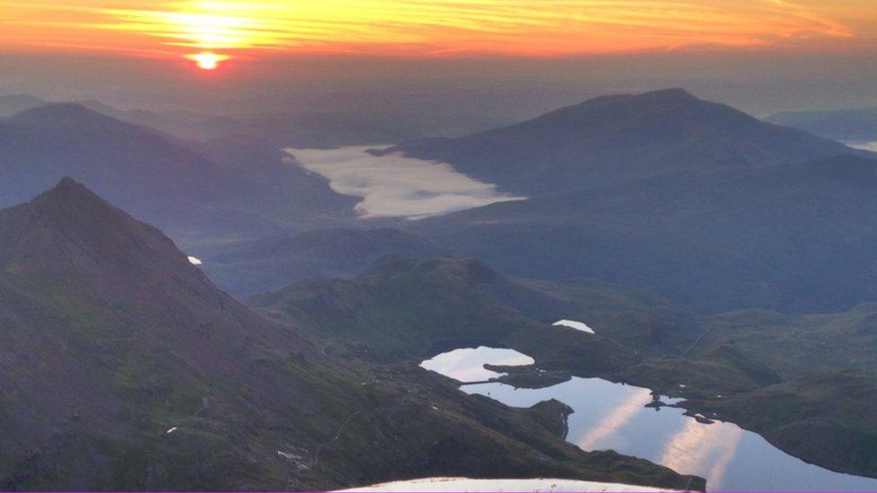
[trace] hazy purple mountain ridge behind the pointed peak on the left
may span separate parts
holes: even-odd
[[[184,241],[354,221],[352,198],[258,139],[195,145],[82,105],[0,119],[0,206],[63,176]]]

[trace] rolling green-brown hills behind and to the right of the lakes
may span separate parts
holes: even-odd
[[[709,317],[599,281],[512,280],[471,260],[402,259],[385,260],[369,276],[307,281],[251,304],[306,330],[330,330],[320,337],[350,357],[417,361],[466,344],[508,346],[550,370],[518,369],[509,383],[541,386],[568,374],[624,380],[684,396],[692,412],[715,412],[819,465],[872,475],[877,465],[868,452],[877,420],[867,412],[877,381],[873,370],[863,372],[873,369],[873,306]],[[337,324],[323,324],[323,316]],[[559,318],[586,321],[598,336],[547,327]],[[860,373],[837,372],[843,368]],[[813,418],[820,414],[826,418]]]

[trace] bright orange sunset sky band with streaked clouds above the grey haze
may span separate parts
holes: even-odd
[[[873,49],[873,0],[0,0],[0,50],[146,57],[557,57]]]

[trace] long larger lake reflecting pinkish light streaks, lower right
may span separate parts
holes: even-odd
[[[465,362],[473,368],[483,365],[474,357]],[[454,371],[466,374],[462,359]],[[583,450],[615,450],[702,476],[711,490],[877,490],[877,480],[808,464],[731,423],[704,425],[684,416],[683,409],[646,408],[651,392],[639,387],[573,377],[544,389],[516,389],[504,383],[461,389],[518,408],[562,401],[575,411],[569,418],[569,442]]]

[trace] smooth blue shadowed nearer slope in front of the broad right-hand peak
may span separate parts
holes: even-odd
[[[412,232],[522,277],[598,277],[719,312],[833,312],[872,300],[877,160],[715,182],[645,180],[494,204]]]

